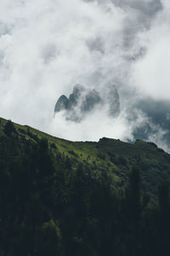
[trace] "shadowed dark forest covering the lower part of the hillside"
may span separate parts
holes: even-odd
[[[33,140],[12,136],[9,125],[0,137],[0,255],[169,255],[169,183],[153,205],[133,166],[118,194],[105,169],[77,163],[31,132]]]

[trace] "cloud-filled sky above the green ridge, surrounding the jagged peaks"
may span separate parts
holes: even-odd
[[[56,137],[144,138],[170,151],[169,0],[1,0],[0,116]],[[115,84],[121,113],[54,117],[75,84]]]

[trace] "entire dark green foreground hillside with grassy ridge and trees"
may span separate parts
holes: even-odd
[[[71,142],[0,119],[0,255],[170,252],[170,155]]]

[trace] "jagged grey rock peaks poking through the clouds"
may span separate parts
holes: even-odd
[[[54,114],[65,110],[66,119],[80,122],[94,108],[105,106],[105,104],[109,106],[108,113],[112,117],[120,113],[119,94],[114,85],[110,87],[105,96],[100,96],[97,90],[90,90],[81,84],[76,84],[69,98],[65,95],[59,97]]]

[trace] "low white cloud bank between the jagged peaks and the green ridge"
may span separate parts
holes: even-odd
[[[59,113],[51,124],[52,134],[55,135],[57,132],[59,137],[74,141],[84,139],[98,141],[101,137],[126,140],[127,138],[133,138],[132,131],[132,126],[129,126],[125,113],[122,113],[116,119],[111,119],[106,115],[105,109],[103,111],[101,109],[95,110],[81,123],[66,121],[62,117],[62,113]]]

